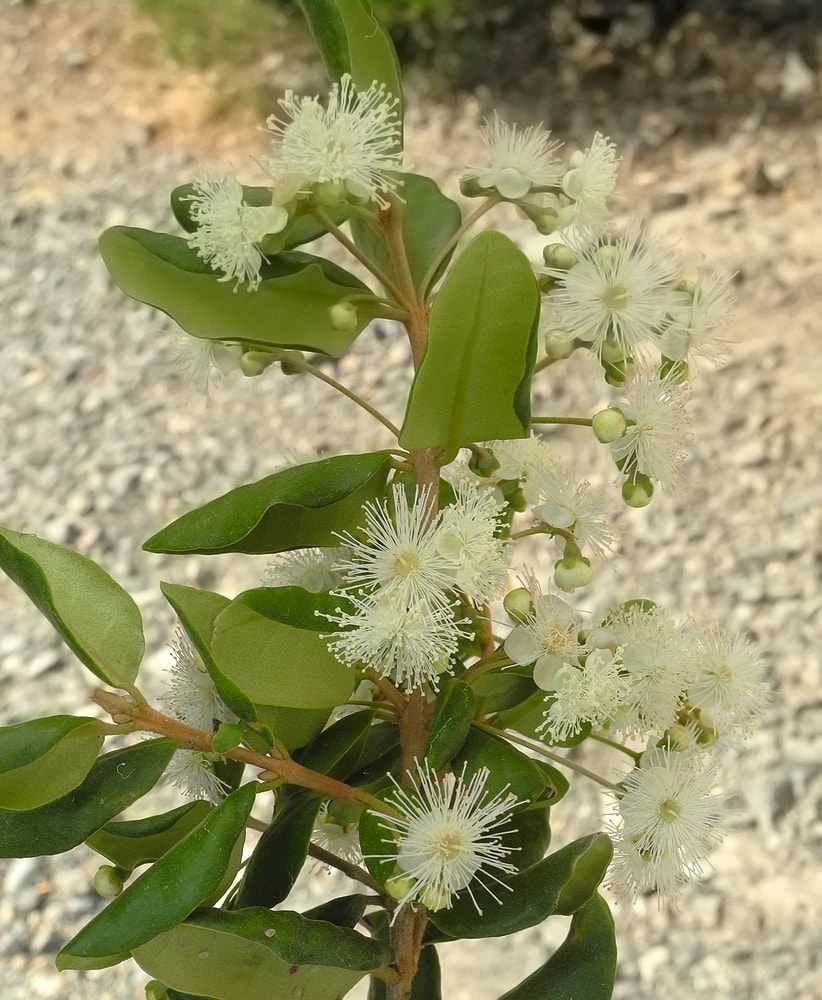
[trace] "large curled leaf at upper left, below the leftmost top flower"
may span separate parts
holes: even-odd
[[[263,350],[296,348],[338,358],[379,315],[379,306],[358,278],[298,251],[277,254],[264,263],[255,291],[235,291],[179,236],[115,226],[100,236],[100,253],[126,295],[162,310],[187,333],[204,340],[242,341]],[[356,326],[335,329],[328,310],[350,295],[358,296]]]

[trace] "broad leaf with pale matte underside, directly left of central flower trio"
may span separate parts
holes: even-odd
[[[217,616],[211,652],[220,672],[258,706],[334,708],[354,689],[354,671],[335,659],[318,632],[242,604]]]

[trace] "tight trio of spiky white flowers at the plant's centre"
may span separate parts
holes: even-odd
[[[409,504],[395,485],[393,503],[364,506],[356,537],[341,535],[342,577],[335,591],[345,598],[327,616],[340,631],[326,638],[343,663],[361,664],[406,690],[437,684],[461,640],[471,638],[459,616],[461,601],[483,604],[507,582],[508,548],[498,537],[500,510],[494,496],[467,481],[455,502],[432,512],[427,492]]]

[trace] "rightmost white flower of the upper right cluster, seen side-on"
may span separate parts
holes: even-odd
[[[731,275],[721,267],[700,271],[696,282],[678,287],[671,300],[669,322],[660,337],[660,348],[671,361],[703,357],[720,363],[728,353],[727,341],[717,331],[736,302]]]

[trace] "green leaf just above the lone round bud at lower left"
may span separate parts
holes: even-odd
[[[114,820],[86,839],[86,844],[125,872],[156,861],[213,810],[208,802],[188,802],[146,819]]]

